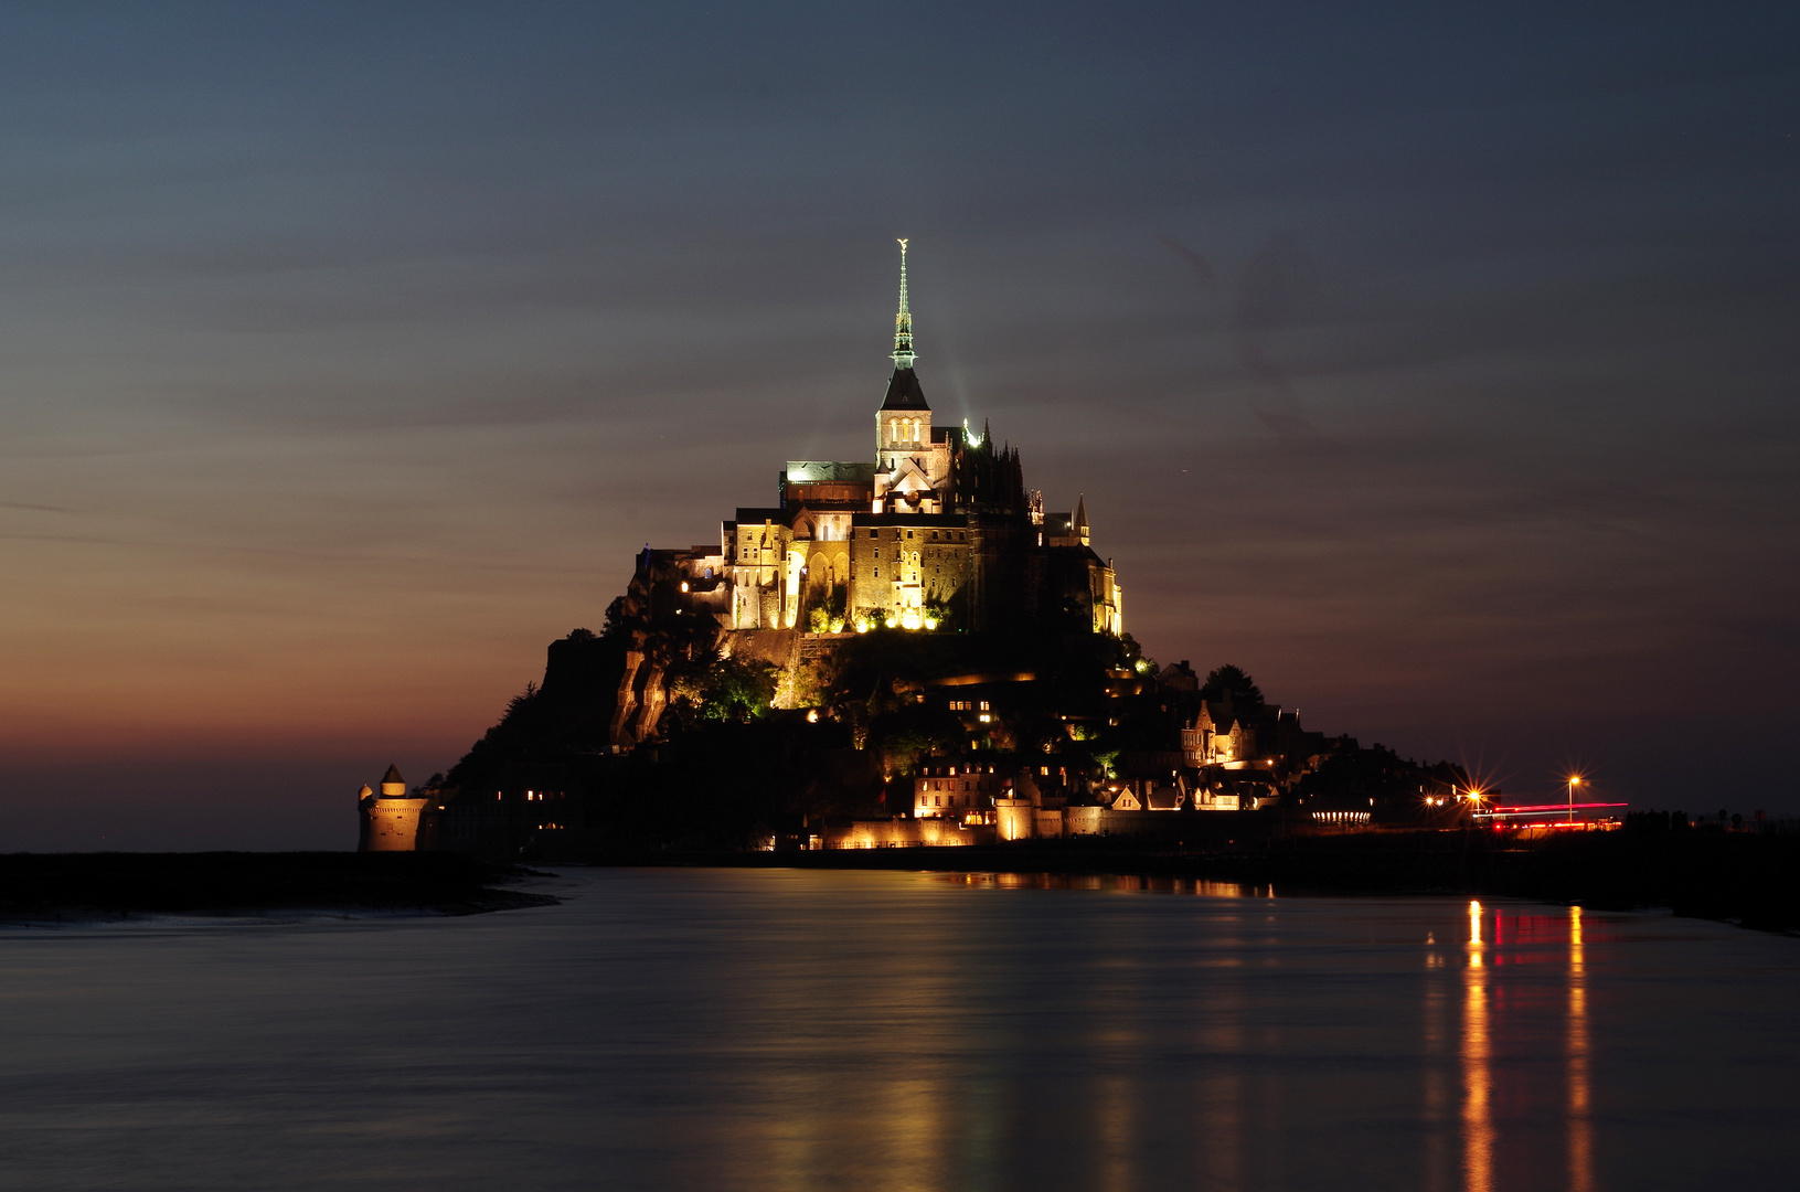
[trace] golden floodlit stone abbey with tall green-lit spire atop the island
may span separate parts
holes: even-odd
[[[1015,448],[932,421],[914,371],[905,245],[893,376],[868,461],[788,461],[776,502],[738,508],[716,546],[644,549],[634,603],[711,614],[724,630],[985,630],[1019,619],[1121,634],[1111,560],[1085,501],[1044,513]]]

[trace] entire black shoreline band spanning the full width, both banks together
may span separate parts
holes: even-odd
[[[1800,933],[1800,835],[1571,834],[1530,844],[1481,832],[1370,832],[1183,850],[1084,837],[970,848],[630,850],[533,864],[909,870],[1222,880],[1319,895],[1503,895],[1595,909],[1670,909]],[[551,906],[508,889],[533,871],[464,853],[11,853],[0,922],[130,915],[374,911],[481,915]]]

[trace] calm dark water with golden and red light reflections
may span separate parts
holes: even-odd
[[[1800,940],[1456,900],[571,871],[0,933],[5,1188],[1791,1188]]]

